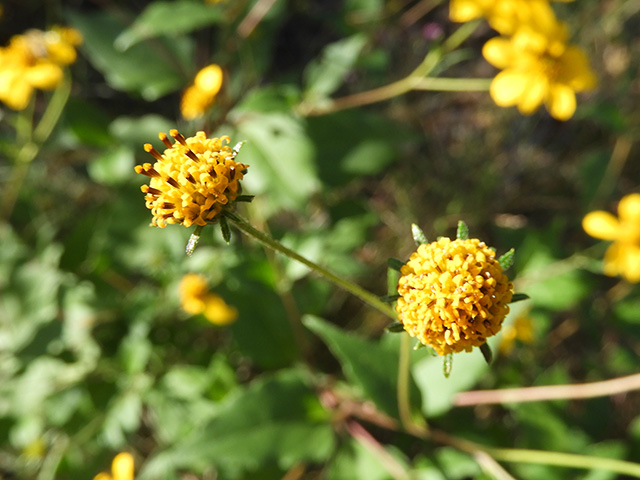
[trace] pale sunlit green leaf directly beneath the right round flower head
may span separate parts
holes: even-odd
[[[453,356],[453,371],[449,378],[442,375],[443,357],[426,357],[412,368],[420,392],[422,411],[427,417],[442,415],[453,406],[455,394],[473,387],[487,371],[487,363],[478,349]]]

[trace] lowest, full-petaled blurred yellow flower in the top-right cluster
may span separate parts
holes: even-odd
[[[521,28],[509,38],[490,39],[482,54],[501,69],[491,82],[491,98],[501,107],[517,106],[530,115],[542,104],[552,117],[568,120],[576,110],[576,92],[597,81],[584,52],[566,46],[566,29],[551,26],[549,36]]]

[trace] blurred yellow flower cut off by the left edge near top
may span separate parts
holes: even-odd
[[[34,89],[52,90],[63,78],[63,67],[76,60],[82,35],[73,28],[29,30],[0,48],[0,101],[13,110],[27,108]]]

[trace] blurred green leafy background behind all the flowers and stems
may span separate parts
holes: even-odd
[[[388,318],[235,230],[226,245],[205,228],[187,257],[188,229],[149,227],[133,167],[170,128],[246,140],[238,158],[256,198],[240,212],[376,294],[388,293],[387,258],[414,249],[411,223],[435,239],[462,219],[499,253],[514,247],[511,273],[531,299],[506,324],[528,316],[533,342],[498,353],[498,335],[492,365],[456,355],[448,379],[440,358],[412,352],[413,414],[491,447],[638,461],[638,392],[454,406],[471,389],[640,367],[640,290],[601,274],[605,246],[580,226],[638,190],[640,6],[554,8],[600,82],[564,123],[501,109],[487,92],[305,114],[411,73],[460,28],[446,2],[3,1],[3,44],[53,24],[84,43],[60,121],[27,168],[13,160],[23,114],[0,110],[0,197],[19,189],[0,222],[0,478],[93,478],[118,451],[141,479],[490,478],[466,453],[367,416],[398,417]],[[480,25],[435,74],[491,78],[480,50],[493,35]],[[222,91],[186,122],[181,92],[210,63]],[[51,96],[38,93],[36,122]],[[234,324],[180,309],[189,272],[238,309]],[[622,478],[503,465],[516,478]]]

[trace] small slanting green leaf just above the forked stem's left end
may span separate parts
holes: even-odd
[[[305,101],[313,104],[336,91],[366,43],[365,35],[356,34],[327,45],[320,58],[309,63],[304,72]]]

